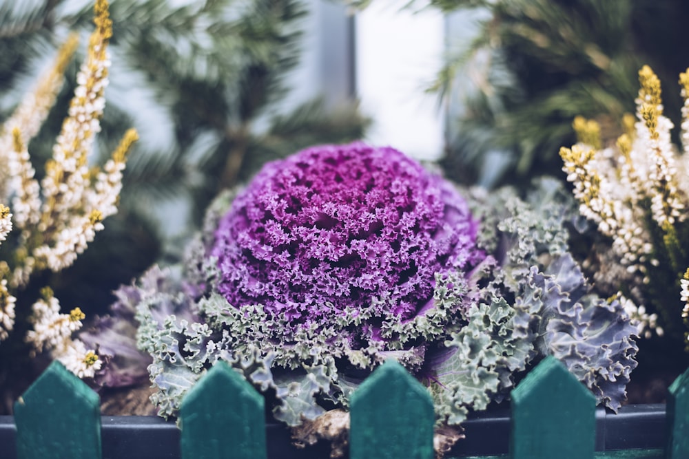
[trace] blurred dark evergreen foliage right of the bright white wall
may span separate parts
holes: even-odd
[[[635,111],[644,64],[664,83],[666,114],[680,119],[689,2],[429,3],[449,14],[446,65],[430,90],[449,107],[442,165],[455,180],[522,187],[537,175],[564,180],[558,151],[575,142],[573,118],[595,118],[616,138],[621,116]],[[473,37],[453,40],[453,28],[467,25]]]

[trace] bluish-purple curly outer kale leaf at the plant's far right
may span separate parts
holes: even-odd
[[[546,273],[531,268],[515,301],[515,333],[537,337],[542,355],[552,354],[586,384],[599,403],[617,412],[637,366],[636,328],[619,301],[588,295],[590,286],[570,255]]]

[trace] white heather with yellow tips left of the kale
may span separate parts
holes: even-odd
[[[41,180],[31,162],[29,142],[61,91],[63,72],[76,50],[75,35],[61,47],[34,92],[23,98],[0,127],[0,200],[6,204],[0,204],[0,240],[4,242],[0,251],[0,341],[11,336],[16,321],[25,321],[20,329],[28,331],[19,339],[30,345],[30,353],[48,353],[79,377],[93,376],[102,364],[94,350],[72,339],[85,314],[80,308],[61,313],[59,301],[48,287],[32,305],[17,303],[17,298],[34,301],[31,295],[21,296],[30,282],[43,271],[57,272],[72,265],[103,229],[102,220],[117,211],[122,171],[136,132],[125,134],[102,170],[90,168],[88,160],[105,107],[110,67],[107,44],[112,36],[107,1],[96,0],[94,13],[96,30]]]

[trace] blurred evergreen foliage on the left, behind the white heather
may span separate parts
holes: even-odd
[[[110,86],[94,162],[125,129],[141,137],[125,170],[120,211],[74,266],[49,283],[65,308],[105,312],[110,292],[183,241],[220,189],[267,160],[324,142],[360,138],[368,120],[355,102],[313,100],[285,113],[285,76],[300,57],[297,0],[111,0]],[[81,47],[68,84],[29,145],[37,174],[67,112],[92,29],[90,0],[0,0],[0,120],[8,117],[70,31]]]

